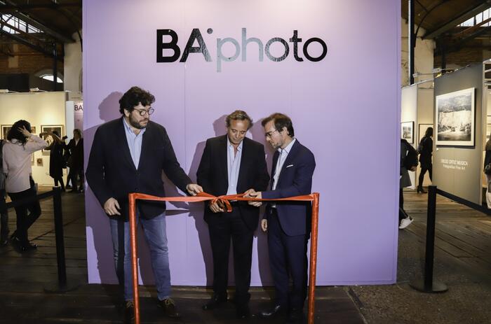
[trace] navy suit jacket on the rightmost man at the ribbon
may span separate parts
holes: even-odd
[[[273,185],[274,171],[278,162],[278,150],[273,155],[273,167],[271,169],[271,188]],[[312,175],[316,168],[316,160],[311,151],[297,140],[286,157],[280,171],[276,190],[262,192],[262,198],[287,198],[300,195],[309,195],[312,190]],[[277,202],[276,211],[283,232],[288,236],[308,234],[311,222],[310,202]],[[271,204],[266,208],[267,219],[271,213]]]

